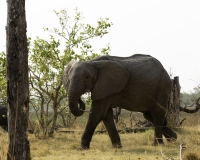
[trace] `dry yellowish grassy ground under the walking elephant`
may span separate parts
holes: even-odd
[[[199,114],[187,116],[185,125],[175,129],[178,139],[174,143],[153,147],[153,130],[144,133],[120,134],[123,148],[113,149],[107,134],[95,134],[90,150],[76,151],[82,128],[74,134],[55,133],[53,138],[35,137],[29,134],[32,160],[179,160],[180,145],[183,160],[200,160]],[[185,115],[183,115],[184,117]],[[0,131],[0,160],[6,159],[7,133]],[[171,159],[170,159],[171,158]]]

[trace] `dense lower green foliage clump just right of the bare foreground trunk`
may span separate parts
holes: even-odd
[[[31,81],[46,94],[55,94],[61,83],[64,64],[60,61],[59,45],[59,41],[50,36],[49,41],[37,38],[30,49]]]

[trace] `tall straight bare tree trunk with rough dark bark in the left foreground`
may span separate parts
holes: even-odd
[[[25,0],[7,0],[8,160],[29,160],[29,84]]]

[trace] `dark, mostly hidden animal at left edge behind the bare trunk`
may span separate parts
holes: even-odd
[[[0,126],[8,131],[7,107],[0,105]]]

